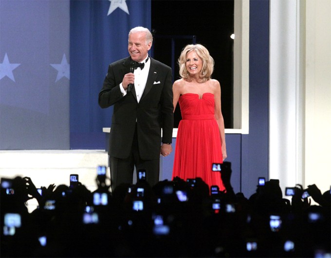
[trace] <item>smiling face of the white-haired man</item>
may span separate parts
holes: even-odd
[[[128,51],[132,60],[138,63],[147,57],[152,43],[146,44],[146,34],[143,32],[131,33],[129,35]]]

